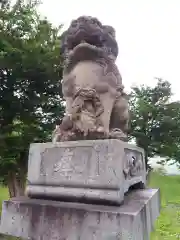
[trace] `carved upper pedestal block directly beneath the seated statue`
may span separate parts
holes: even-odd
[[[124,193],[146,182],[144,152],[120,140],[31,144],[27,195],[120,204]]]

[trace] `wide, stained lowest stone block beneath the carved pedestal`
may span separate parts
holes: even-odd
[[[3,203],[0,232],[43,240],[148,240],[159,190],[132,191],[120,207],[15,198]]]

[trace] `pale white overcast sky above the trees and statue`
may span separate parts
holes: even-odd
[[[172,84],[180,100],[180,0],[42,0],[41,15],[64,24],[80,15],[99,18],[116,29],[117,65],[128,90],[133,84]],[[103,3],[103,4],[102,4]]]

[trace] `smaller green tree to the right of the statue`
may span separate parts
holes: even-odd
[[[148,158],[180,162],[180,102],[172,101],[171,85],[157,79],[155,87],[133,87],[130,94],[131,136]]]

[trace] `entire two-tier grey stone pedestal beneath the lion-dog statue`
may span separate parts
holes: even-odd
[[[149,240],[159,190],[142,149],[120,140],[31,144],[27,196],[3,203],[0,232],[33,240]],[[128,191],[129,190],[129,191]]]

